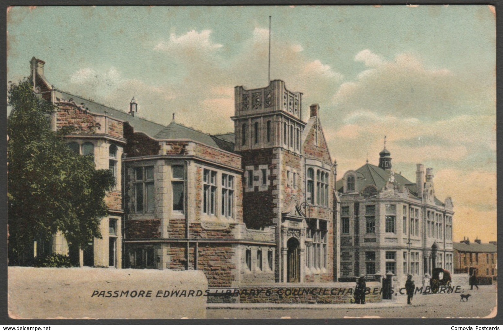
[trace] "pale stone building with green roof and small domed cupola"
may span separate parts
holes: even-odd
[[[379,156],[379,166],[367,161],[337,183],[341,278],[452,272],[453,204],[435,196],[433,169],[417,164],[414,183],[391,170],[386,148]]]

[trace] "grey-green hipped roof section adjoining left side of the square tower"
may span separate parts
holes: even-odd
[[[224,140],[218,136],[212,136],[210,134],[186,127],[182,124],[175,122],[170,123],[162,130],[160,130],[155,136],[155,139],[189,139],[197,142],[201,142],[211,147],[223,149],[229,152],[234,151],[234,144],[227,140]]]

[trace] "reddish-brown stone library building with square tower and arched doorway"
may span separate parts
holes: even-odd
[[[81,266],[204,271],[211,287],[337,279],[336,164],[319,106],[281,80],[235,88],[235,133],[157,124],[50,86],[32,59],[34,90],[57,106],[54,130],[93,154],[117,181],[103,239],[75,252]],[[108,168],[107,168],[108,167]],[[64,236],[52,251],[71,254]]]

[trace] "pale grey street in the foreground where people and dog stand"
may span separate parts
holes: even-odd
[[[413,304],[407,305],[403,299],[398,303],[384,300],[382,303],[356,304],[229,304],[209,305],[206,318],[343,318],[343,317],[383,317],[383,318],[445,318],[445,317],[486,317],[496,314],[497,290],[495,285],[479,286],[478,290],[462,289],[462,294],[470,294],[468,301],[460,301],[458,293],[415,295]],[[231,307],[231,308],[229,308]]]

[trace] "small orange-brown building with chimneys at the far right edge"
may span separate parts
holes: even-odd
[[[457,274],[476,273],[479,276],[498,275],[498,246],[496,241],[482,243],[480,239],[470,242],[463,238],[454,242],[454,272]]]

